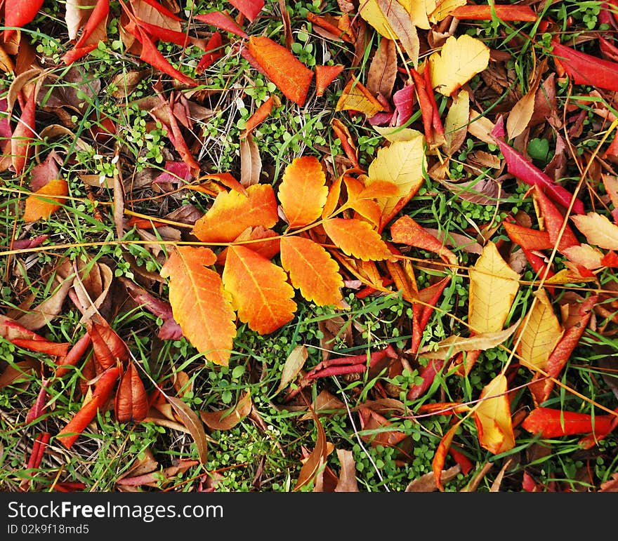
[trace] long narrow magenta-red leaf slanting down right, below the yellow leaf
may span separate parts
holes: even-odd
[[[572,194],[567,189],[553,182],[551,178],[534,166],[531,161],[525,159],[525,157],[513,147],[510,147],[506,142],[500,140],[499,133],[502,132],[504,134],[504,128],[502,128],[502,126],[502,120],[498,121],[492,135],[494,135],[495,141],[504,156],[508,172],[531,186],[539,186],[539,188],[544,190],[555,203],[560,203],[560,205],[565,208],[569,208]],[[575,199],[572,210],[576,214],[583,214],[584,203],[579,199]]]

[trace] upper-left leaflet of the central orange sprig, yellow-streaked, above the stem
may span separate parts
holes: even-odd
[[[277,200],[270,184],[254,184],[246,196],[234,190],[221,192],[213,206],[193,226],[193,234],[203,242],[230,242],[247,227],[265,229],[279,220]]]

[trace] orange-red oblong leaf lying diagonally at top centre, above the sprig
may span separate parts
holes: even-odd
[[[287,48],[265,36],[249,36],[249,53],[286,98],[305,105],[313,72]]]

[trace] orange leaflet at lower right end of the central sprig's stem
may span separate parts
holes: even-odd
[[[324,231],[341,250],[363,261],[388,259],[390,251],[368,222],[344,218],[324,221]]]

